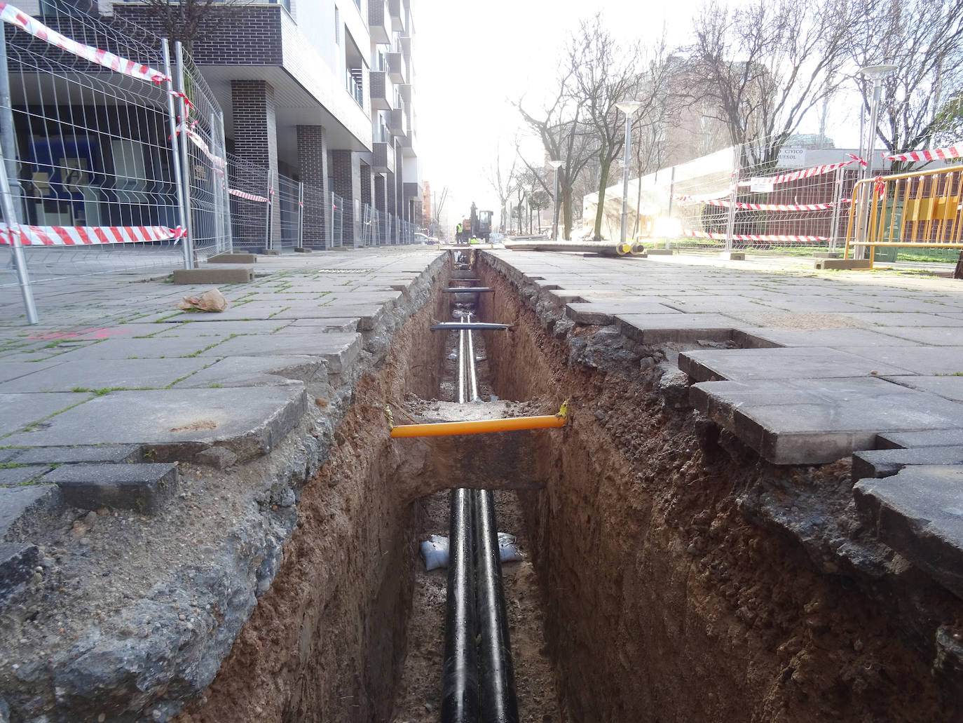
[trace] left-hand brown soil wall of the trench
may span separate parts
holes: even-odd
[[[335,446],[298,504],[298,528],[221,671],[180,723],[374,721],[401,679],[419,509],[396,494],[409,460],[387,435],[385,404],[430,397],[447,315],[434,283],[427,306],[391,336],[385,362],[354,389]],[[325,406],[325,399],[317,399]]]

